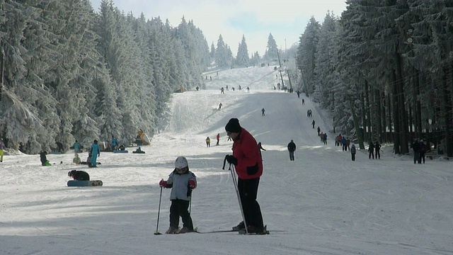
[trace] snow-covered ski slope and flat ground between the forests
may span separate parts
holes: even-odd
[[[453,162],[413,164],[386,145],[381,159],[359,151],[352,162],[349,152],[332,144],[335,134],[328,145],[320,142],[311,121],[330,131],[330,119],[310,98],[273,90],[276,74],[273,66],[208,73],[206,89],[173,95],[166,129],[142,147],[146,154],[101,152],[97,169],[71,164],[70,152],[48,155],[55,164],[46,167],[39,155],[6,155],[0,164],[0,254],[453,254]],[[226,85],[229,91],[220,94]],[[313,118],[306,117],[309,108]],[[231,174],[222,170],[231,153],[224,131],[229,118],[239,118],[267,149],[258,201],[270,234],[154,235],[158,183],[180,155],[197,175],[195,227],[231,229],[241,221]],[[290,140],[297,145],[294,162],[286,149]],[[104,186],[67,187],[71,169],[88,171]],[[161,233],[168,228],[169,194],[164,189]]]

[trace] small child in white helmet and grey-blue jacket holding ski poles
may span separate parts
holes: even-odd
[[[189,171],[185,157],[176,158],[175,170],[168,180],[159,182],[162,188],[171,188],[170,227],[166,234],[193,232],[193,222],[188,211],[192,190],[197,186],[197,178]],[[179,217],[183,220],[183,228],[179,229]]]

